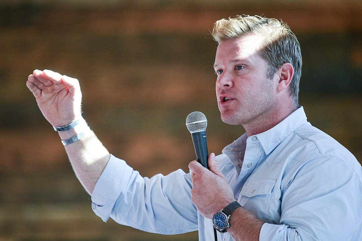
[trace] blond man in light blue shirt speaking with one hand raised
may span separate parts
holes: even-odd
[[[141,177],[81,117],[76,79],[49,70],[29,76],[94,212],[148,232],[198,230],[207,241],[361,240],[362,168],[298,106],[295,35],[276,19],[237,16],[217,21],[212,36],[221,118],[246,133],[210,154],[210,171],[191,161],[188,174]]]

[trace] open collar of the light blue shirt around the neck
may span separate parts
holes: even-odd
[[[291,113],[287,118],[282,120],[273,128],[260,134],[247,137],[247,134],[240,136],[230,145],[223,149],[223,153],[229,151],[245,151],[247,143],[255,143],[259,141],[266,155],[269,155],[287,136],[292,134],[298,127],[307,122],[307,116],[303,106],[299,106],[297,110]],[[255,139],[255,137],[257,139]],[[255,140],[254,140],[255,139]]]

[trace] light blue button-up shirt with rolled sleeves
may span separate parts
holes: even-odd
[[[237,201],[265,221],[261,241],[362,240],[362,168],[336,140],[311,126],[303,107],[268,131],[243,135],[216,157]],[[189,173],[141,177],[111,156],[92,194],[106,221],[147,232],[199,231],[214,240],[210,219],[190,199]],[[218,233],[218,240],[233,240]]]

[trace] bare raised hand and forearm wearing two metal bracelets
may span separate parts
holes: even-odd
[[[76,176],[88,193],[92,194],[110,155],[81,118],[82,93],[79,81],[51,70],[35,69],[29,75],[26,86],[34,94],[44,117],[53,126],[64,126],[80,118],[80,123],[70,130],[59,130],[59,136],[66,140],[85,131],[85,136],[68,143],[65,148]]]

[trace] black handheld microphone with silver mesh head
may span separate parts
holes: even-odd
[[[186,118],[186,127],[191,133],[197,161],[209,169],[209,164],[207,163],[209,152],[207,151],[206,141],[206,116],[200,111],[191,112]]]

